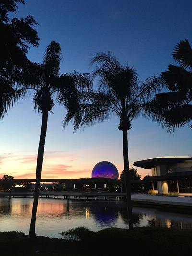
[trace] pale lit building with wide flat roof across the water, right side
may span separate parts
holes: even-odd
[[[145,181],[153,184],[159,194],[192,193],[192,157],[157,157],[134,162],[134,166],[151,169]]]

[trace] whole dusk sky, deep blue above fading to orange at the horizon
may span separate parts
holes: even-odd
[[[110,51],[122,64],[129,64],[139,80],[166,71],[172,51],[180,40],[192,44],[191,0],[25,0],[16,17],[33,15],[39,47],[28,58],[41,62],[45,48],[55,40],[62,48],[61,73],[91,73],[90,59],[96,52]],[[94,86],[96,87],[96,81]],[[10,109],[0,121],[0,177],[35,178],[41,115],[33,110],[32,97]],[[119,120],[98,123],[73,133],[63,130],[65,110],[55,105],[48,115],[42,178],[91,177],[100,161],[123,170],[122,131]],[[158,156],[192,156],[192,129],[174,134],[139,117],[128,135],[130,167],[138,160]],[[150,170],[137,168],[143,178]]]

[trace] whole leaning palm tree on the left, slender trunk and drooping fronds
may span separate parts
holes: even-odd
[[[71,119],[73,117],[77,118],[80,91],[91,87],[91,78],[89,77],[89,74],[73,72],[60,75],[61,59],[60,44],[52,41],[45,51],[43,63],[30,63],[26,66],[24,72],[17,74],[16,79],[16,82],[22,88],[34,91],[34,109],[38,109],[38,111],[42,113],[41,134],[36,166],[36,186],[29,230],[30,238],[35,236],[36,213],[38,207],[48,113],[51,112],[55,99],[66,108],[67,115],[70,116]]]

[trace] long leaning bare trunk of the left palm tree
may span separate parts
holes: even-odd
[[[39,200],[39,188],[40,188],[40,182],[41,182],[41,171],[42,171],[42,165],[43,165],[43,155],[44,155],[47,123],[48,123],[48,111],[42,111],[41,135],[40,135],[37,165],[36,165],[36,186],[35,186],[35,193],[34,193],[34,200],[33,200],[31,224],[29,229],[29,238],[35,237],[36,213],[37,213],[38,200]]]

